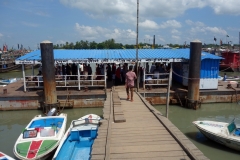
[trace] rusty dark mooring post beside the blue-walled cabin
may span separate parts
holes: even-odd
[[[201,105],[199,101],[201,53],[202,42],[199,40],[192,41],[190,43],[188,96],[186,99],[187,107],[192,109],[198,109]]]

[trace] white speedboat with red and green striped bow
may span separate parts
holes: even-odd
[[[47,116],[37,115],[18,137],[13,153],[22,160],[46,159],[52,155],[63,138],[67,115],[56,115],[56,109],[50,110]]]

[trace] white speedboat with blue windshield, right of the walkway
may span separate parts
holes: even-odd
[[[210,140],[240,151],[240,128],[235,124],[217,121],[194,121],[193,124]]]

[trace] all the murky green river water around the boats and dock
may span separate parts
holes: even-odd
[[[37,69],[35,69],[37,74]],[[31,75],[32,70],[27,70],[26,75]],[[228,73],[228,75],[237,75]],[[0,78],[22,77],[22,72],[9,72],[0,74]],[[166,106],[154,106],[162,114],[165,114]],[[25,110],[25,111],[1,111],[0,112],[0,151],[13,156],[13,146],[19,134],[30,122],[30,120],[38,114],[40,110]],[[97,114],[102,116],[102,108],[81,108],[81,109],[66,109],[64,113],[68,114],[67,128],[70,122],[78,119],[86,114]],[[198,129],[192,124],[195,120],[217,120],[230,122],[236,119],[240,124],[240,105],[237,103],[212,103],[202,104],[198,110],[187,109],[178,105],[169,106],[169,120],[181,130],[197,148],[199,148],[206,157],[211,160],[230,160],[240,159],[240,153],[222,146],[218,143],[206,139]]]

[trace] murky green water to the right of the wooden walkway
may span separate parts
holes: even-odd
[[[162,114],[166,113],[166,106],[155,106]],[[240,152],[222,146],[206,139],[192,124],[195,120],[216,120],[230,122],[236,118],[240,124],[240,105],[236,103],[203,104],[200,109],[192,110],[180,106],[169,107],[169,120],[182,131],[206,157],[211,160],[240,159]]]

